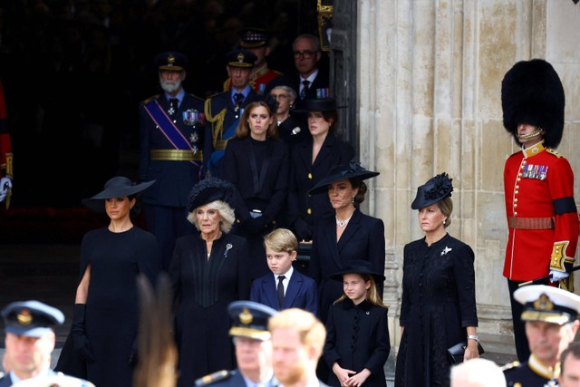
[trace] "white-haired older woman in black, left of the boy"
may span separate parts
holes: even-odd
[[[189,194],[188,219],[199,233],[177,240],[169,266],[179,303],[179,386],[234,367],[227,305],[249,296],[247,242],[229,234],[236,220],[230,207],[234,192],[228,181],[210,178]]]

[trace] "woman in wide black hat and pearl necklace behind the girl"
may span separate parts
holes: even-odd
[[[379,218],[362,214],[358,205],[364,201],[366,185],[379,172],[363,169],[351,161],[338,165],[321,179],[310,195],[324,197],[333,214],[317,220],[308,274],[318,284],[320,317],[326,321],[328,308],[343,294],[343,286],[330,276],[354,259],[372,263],[375,271],[384,271],[384,225]],[[382,283],[377,284],[382,295]]]

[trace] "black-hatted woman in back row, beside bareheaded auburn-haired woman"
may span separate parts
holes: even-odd
[[[350,144],[338,140],[336,102],[332,98],[304,100],[301,111],[308,114],[308,130],[312,135],[290,150],[290,191],[288,193],[288,221],[298,240],[312,240],[314,219],[333,214],[328,199],[311,196],[312,189],[336,165],[353,159]]]

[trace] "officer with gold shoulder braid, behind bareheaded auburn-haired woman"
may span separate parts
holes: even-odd
[[[227,53],[226,59],[231,89],[209,97],[205,104],[206,119],[211,129],[208,175],[216,178],[222,178],[221,158],[224,156],[227,140],[236,132],[244,109],[248,103],[262,100],[249,83],[256,55],[247,50],[234,50]]]

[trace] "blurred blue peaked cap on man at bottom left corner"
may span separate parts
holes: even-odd
[[[5,331],[28,337],[41,337],[54,325],[64,323],[60,310],[39,301],[17,301],[2,309]]]

